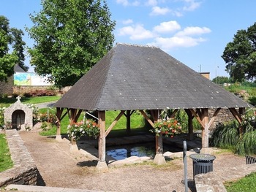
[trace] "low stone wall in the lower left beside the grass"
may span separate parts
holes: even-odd
[[[29,151],[15,129],[5,131],[14,166],[0,173],[0,187],[18,185],[37,185],[38,170]]]

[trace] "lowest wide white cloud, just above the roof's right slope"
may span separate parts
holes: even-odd
[[[160,47],[162,50],[168,51],[174,47],[194,47],[200,42],[205,42],[206,39],[203,38],[192,38],[192,37],[157,37],[153,43],[148,45],[153,45]]]

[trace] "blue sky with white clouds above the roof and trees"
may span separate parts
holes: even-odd
[[[1,0],[0,15],[25,32],[40,2]],[[159,47],[196,72],[210,72],[211,79],[228,76],[221,58],[225,46],[256,22],[254,0],[109,0],[108,7],[116,42]],[[23,40],[33,45],[27,34]]]

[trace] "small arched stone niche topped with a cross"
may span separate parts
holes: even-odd
[[[26,127],[33,128],[33,110],[20,102],[20,96],[17,99],[14,104],[4,110],[4,124],[23,130]]]

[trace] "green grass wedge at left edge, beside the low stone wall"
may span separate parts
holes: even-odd
[[[12,166],[13,163],[5,134],[0,134],[0,172],[12,168]]]

